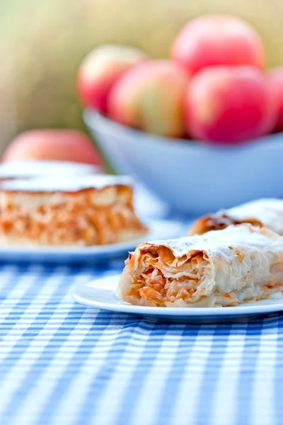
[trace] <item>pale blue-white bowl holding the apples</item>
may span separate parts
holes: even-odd
[[[200,215],[283,195],[283,133],[216,147],[134,130],[91,110],[83,118],[112,167],[175,211]]]

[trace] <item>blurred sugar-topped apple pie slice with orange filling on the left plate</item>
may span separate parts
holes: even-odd
[[[0,244],[103,245],[137,239],[147,229],[132,201],[126,177],[4,181]]]

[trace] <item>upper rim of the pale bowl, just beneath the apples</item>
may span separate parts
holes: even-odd
[[[179,147],[182,149],[197,149],[197,150],[205,150],[205,151],[217,151],[217,152],[233,152],[233,151],[239,151],[245,150],[245,149],[255,149],[256,147],[265,147],[268,145],[268,147],[271,147],[272,142],[273,144],[278,143],[278,139],[282,137],[280,142],[282,142],[283,147],[283,131],[282,132],[275,132],[270,133],[268,135],[258,137],[255,139],[245,140],[243,142],[239,142],[236,144],[221,144],[221,143],[211,143],[206,142],[204,140],[194,140],[194,139],[181,139],[178,137],[164,137],[161,135],[155,135],[153,133],[144,132],[143,130],[138,130],[136,128],[128,127],[127,125],[123,125],[121,123],[117,123],[117,121],[112,120],[111,118],[105,117],[105,115],[101,115],[98,111],[92,108],[86,108],[83,111],[83,121],[86,123],[86,125],[89,128],[95,128],[95,125],[93,124],[94,121],[98,123],[98,125],[103,125],[103,128],[109,133],[115,132],[117,134],[117,131],[127,133],[127,135],[131,135],[132,137],[136,139],[143,138],[143,143],[152,143],[154,142],[156,145],[162,145],[164,147],[164,143],[167,144],[167,146],[174,146]],[[270,140],[272,139],[272,140]],[[173,142],[173,143],[171,143]]]

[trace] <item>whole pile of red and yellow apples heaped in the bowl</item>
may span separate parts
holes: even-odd
[[[79,69],[83,104],[132,128],[223,144],[283,130],[283,67],[265,71],[248,23],[203,16],[183,28],[170,60],[105,45]]]

